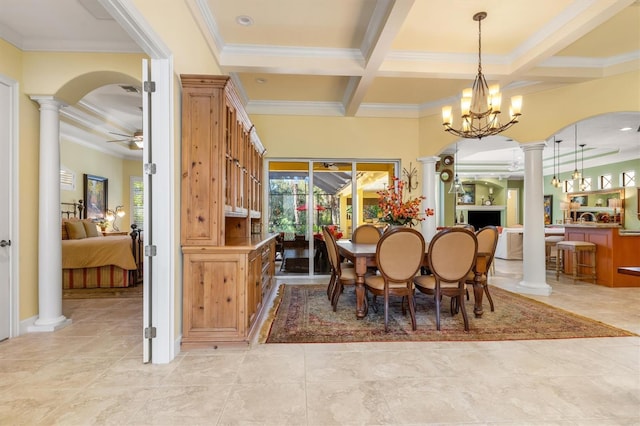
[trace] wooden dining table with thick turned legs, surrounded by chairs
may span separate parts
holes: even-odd
[[[356,317],[362,319],[367,315],[367,304],[365,303],[364,278],[370,267],[377,267],[376,264],[376,244],[354,243],[350,240],[338,240],[338,251],[341,256],[350,260],[354,264],[356,273]],[[476,318],[481,318],[484,313],[482,309],[482,298],[484,295],[483,283],[486,280],[487,263],[491,258],[491,253],[478,252],[473,265],[474,283],[473,313]],[[452,253],[452,259],[455,254]],[[428,253],[425,252],[422,266],[429,267]]]

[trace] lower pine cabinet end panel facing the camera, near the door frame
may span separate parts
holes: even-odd
[[[184,255],[184,339],[244,338],[243,255]]]

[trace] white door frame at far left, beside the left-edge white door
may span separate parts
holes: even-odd
[[[0,74],[0,83],[6,85],[9,88],[9,97],[7,99],[9,105],[7,110],[9,111],[9,131],[8,139],[6,141],[0,141],[0,143],[8,143],[9,146],[9,239],[11,240],[11,251],[9,256],[9,338],[20,335],[20,291],[19,291],[19,275],[20,270],[18,268],[18,255],[20,253],[20,241],[18,239],[18,225],[19,225],[19,189],[18,189],[18,174],[19,174],[19,150],[18,148],[18,131],[19,131],[19,104],[18,94],[19,84],[17,81]],[[4,102],[4,100],[3,100]],[[3,200],[4,202],[4,200]]]

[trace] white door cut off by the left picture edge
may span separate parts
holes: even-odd
[[[11,331],[12,87],[0,78],[0,340]]]

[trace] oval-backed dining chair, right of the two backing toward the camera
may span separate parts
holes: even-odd
[[[415,288],[433,295],[436,302],[436,329],[440,330],[442,296],[455,298],[462,311],[464,329],[469,331],[469,319],[464,308],[465,279],[473,268],[478,252],[476,235],[464,228],[450,228],[438,232],[429,243],[428,259],[432,275],[415,277]],[[456,314],[451,304],[451,315]]]

